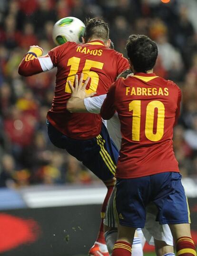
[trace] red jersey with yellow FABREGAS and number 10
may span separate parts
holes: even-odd
[[[109,119],[117,110],[120,119],[122,144],[116,177],[179,171],[172,138],[180,100],[178,86],[155,74],[136,73],[110,87],[100,113]]]

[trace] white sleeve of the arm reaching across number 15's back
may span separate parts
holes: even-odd
[[[96,97],[88,97],[84,99],[84,105],[88,112],[93,114],[99,114],[100,108],[105,100],[107,94],[99,95]]]

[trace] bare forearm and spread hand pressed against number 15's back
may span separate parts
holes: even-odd
[[[70,81],[69,87],[72,92],[68,102],[67,109],[69,112],[89,112],[84,104],[84,99],[87,97],[94,96],[96,93],[87,94],[86,86],[88,85],[89,77],[83,84],[83,74],[80,75],[80,79],[78,81],[78,75],[75,75],[75,87],[71,84]]]

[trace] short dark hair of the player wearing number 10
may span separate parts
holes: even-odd
[[[146,73],[154,67],[158,57],[158,47],[148,36],[130,35],[126,49],[136,72]]]

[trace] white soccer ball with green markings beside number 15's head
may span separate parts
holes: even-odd
[[[53,26],[53,41],[56,45],[66,42],[82,43],[85,24],[75,17],[65,17],[60,19]]]

